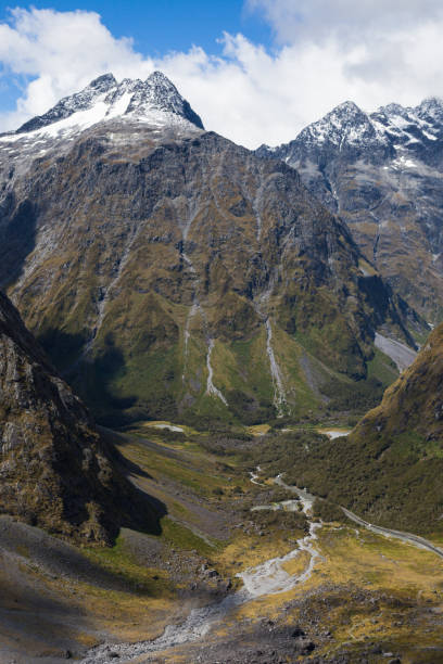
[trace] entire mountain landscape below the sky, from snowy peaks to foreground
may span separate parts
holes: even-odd
[[[442,118],[0,135],[0,664],[443,662]]]

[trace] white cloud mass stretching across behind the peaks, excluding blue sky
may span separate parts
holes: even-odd
[[[441,0],[249,0],[279,44],[266,51],[224,34],[221,56],[194,47],[161,60],[116,39],[93,12],[14,10],[0,25],[0,62],[34,80],[3,128],[45,112],[104,72],[144,78],[161,68],[207,129],[245,144],[276,144],[352,99],[372,110],[443,94]],[[220,26],[221,28],[223,26]]]

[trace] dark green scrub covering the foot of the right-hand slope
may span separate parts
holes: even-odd
[[[307,487],[314,513],[343,521],[344,506],[372,523],[428,536],[443,534],[443,446],[417,434],[330,440],[312,429],[268,433],[241,452],[250,468]]]

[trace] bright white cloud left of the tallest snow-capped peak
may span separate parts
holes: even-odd
[[[0,24],[0,62],[3,76],[25,75],[29,81],[16,111],[2,117],[10,127],[104,72],[147,76],[154,66],[134,51],[130,39],[115,39],[94,12],[36,9],[14,9],[9,23]]]

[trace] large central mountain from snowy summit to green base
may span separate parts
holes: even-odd
[[[376,331],[414,347],[294,169],[205,132],[160,73],[92,81],[0,155],[0,283],[101,422],[303,416],[332,380],[395,378]]]

